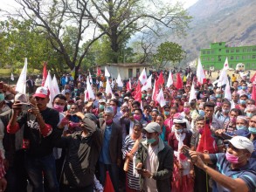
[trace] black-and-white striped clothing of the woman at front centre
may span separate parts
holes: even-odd
[[[123,159],[125,159],[126,154],[131,151],[134,145],[135,145],[135,141],[133,141],[131,139],[131,136],[128,134],[121,148]],[[137,152],[135,154],[137,154]],[[134,163],[133,161],[130,160],[128,164],[127,184],[129,189],[140,190],[140,177],[135,177],[133,172],[134,172]]]

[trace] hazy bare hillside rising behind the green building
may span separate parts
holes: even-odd
[[[199,56],[201,48],[211,42],[227,42],[229,46],[256,45],[256,1],[198,0],[188,11],[193,17],[186,38],[170,35],[167,39],[183,46],[188,63]]]

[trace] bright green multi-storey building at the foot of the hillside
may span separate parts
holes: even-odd
[[[222,69],[225,58],[229,67],[236,69],[236,65],[243,63],[245,70],[256,69],[256,45],[229,47],[225,42],[211,43],[210,49],[201,49],[200,58],[204,69],[214,66],[215,70]]]

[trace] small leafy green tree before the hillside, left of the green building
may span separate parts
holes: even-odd
[[[164,42],[157,47],[154,55],[156,69],[163,69],[168,63],[176,64],[186,58],[186,52],[182,46],[173,42]]]

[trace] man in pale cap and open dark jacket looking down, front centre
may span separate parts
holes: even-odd
[[[144,128],[146,140],[136,154],[135,165],[140,177],[140,187],[145,192],[170,192],[173,171],[173,150],[160,138],[161,127],[151,122]]]

